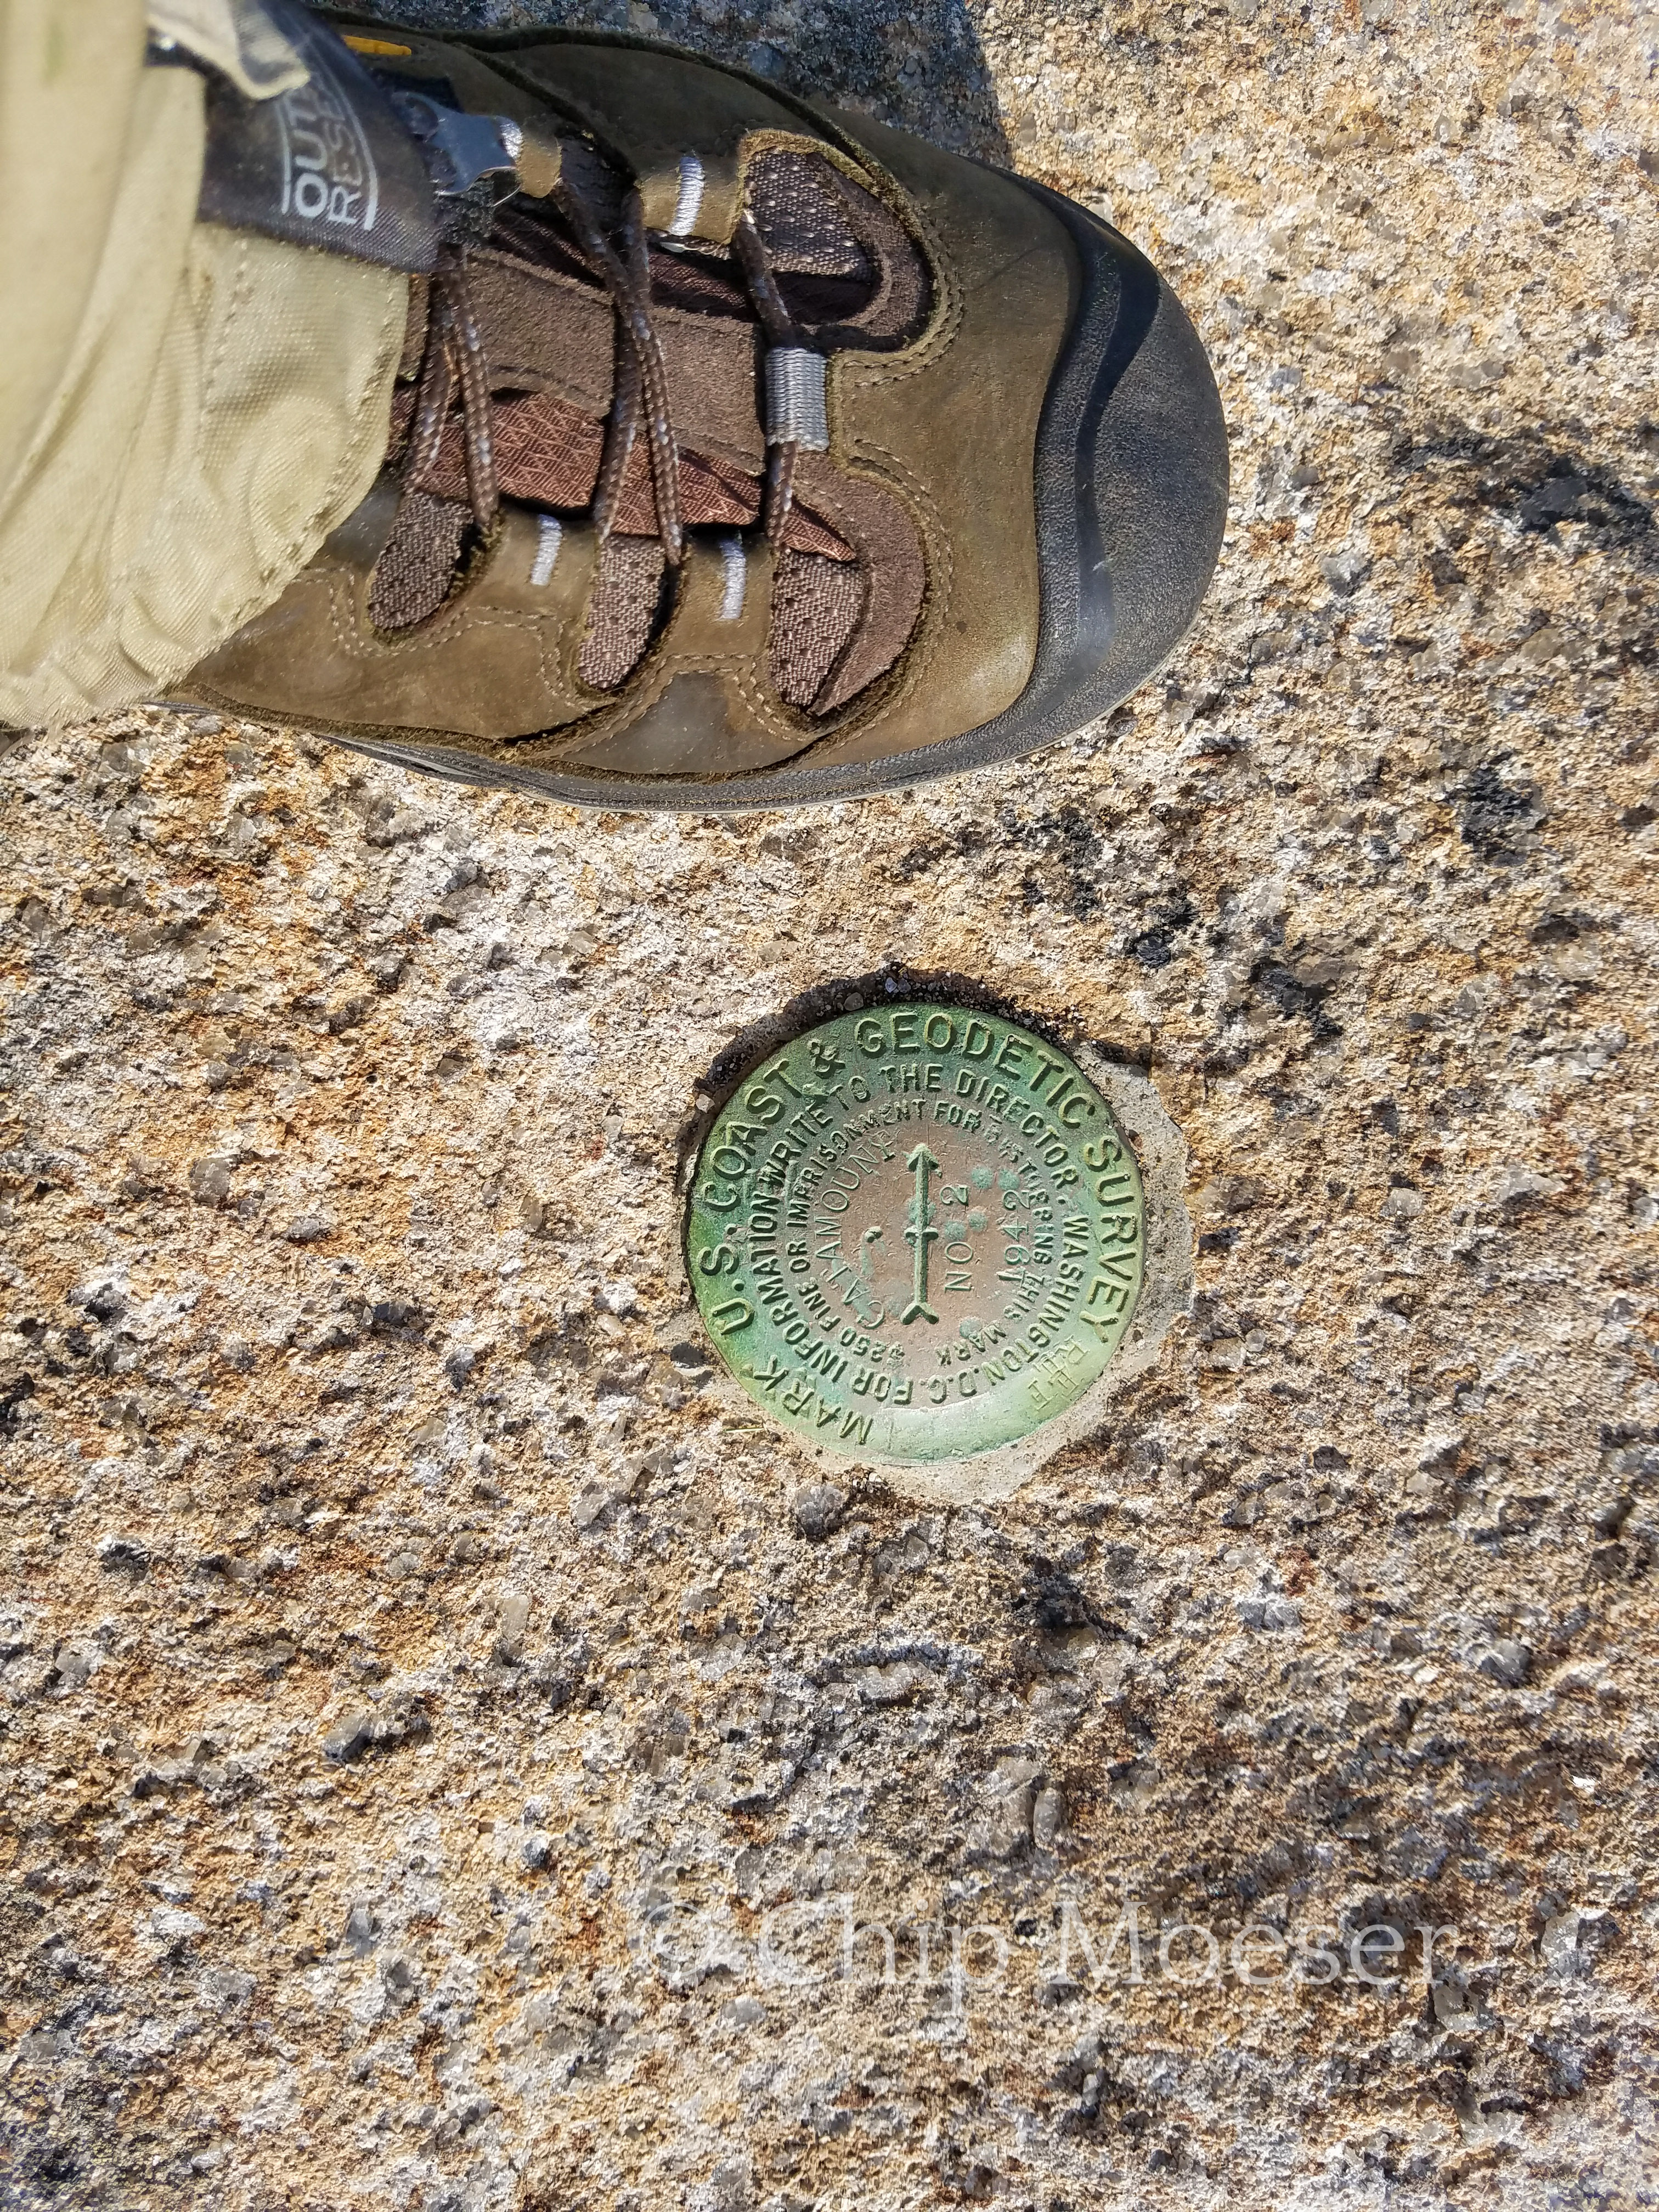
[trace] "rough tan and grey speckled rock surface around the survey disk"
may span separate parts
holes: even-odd
[[[4,2201],[1652,2203],[1652,15],[661,27],[1159,254],[1221,573],[845,810],[11,745]],[[998,1506],[684,1310],[699,1082],[883,967],[1192,1148],[1190,1321]]]

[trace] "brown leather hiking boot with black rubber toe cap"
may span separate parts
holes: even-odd
[[[754,807],[1029,752],[1177,644],[1225,431],[1115,230],[666,46],[330,24],[445,212],[378,487],[192,697]]]

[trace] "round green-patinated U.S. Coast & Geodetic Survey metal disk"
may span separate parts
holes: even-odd
[[[1102,1374],[1141,1287],[1141,1175],[1066,1053],[991,1013],[880,1006],[774,1053],[708,1133],[686,1265],[774,1420],[962,1460]]]

